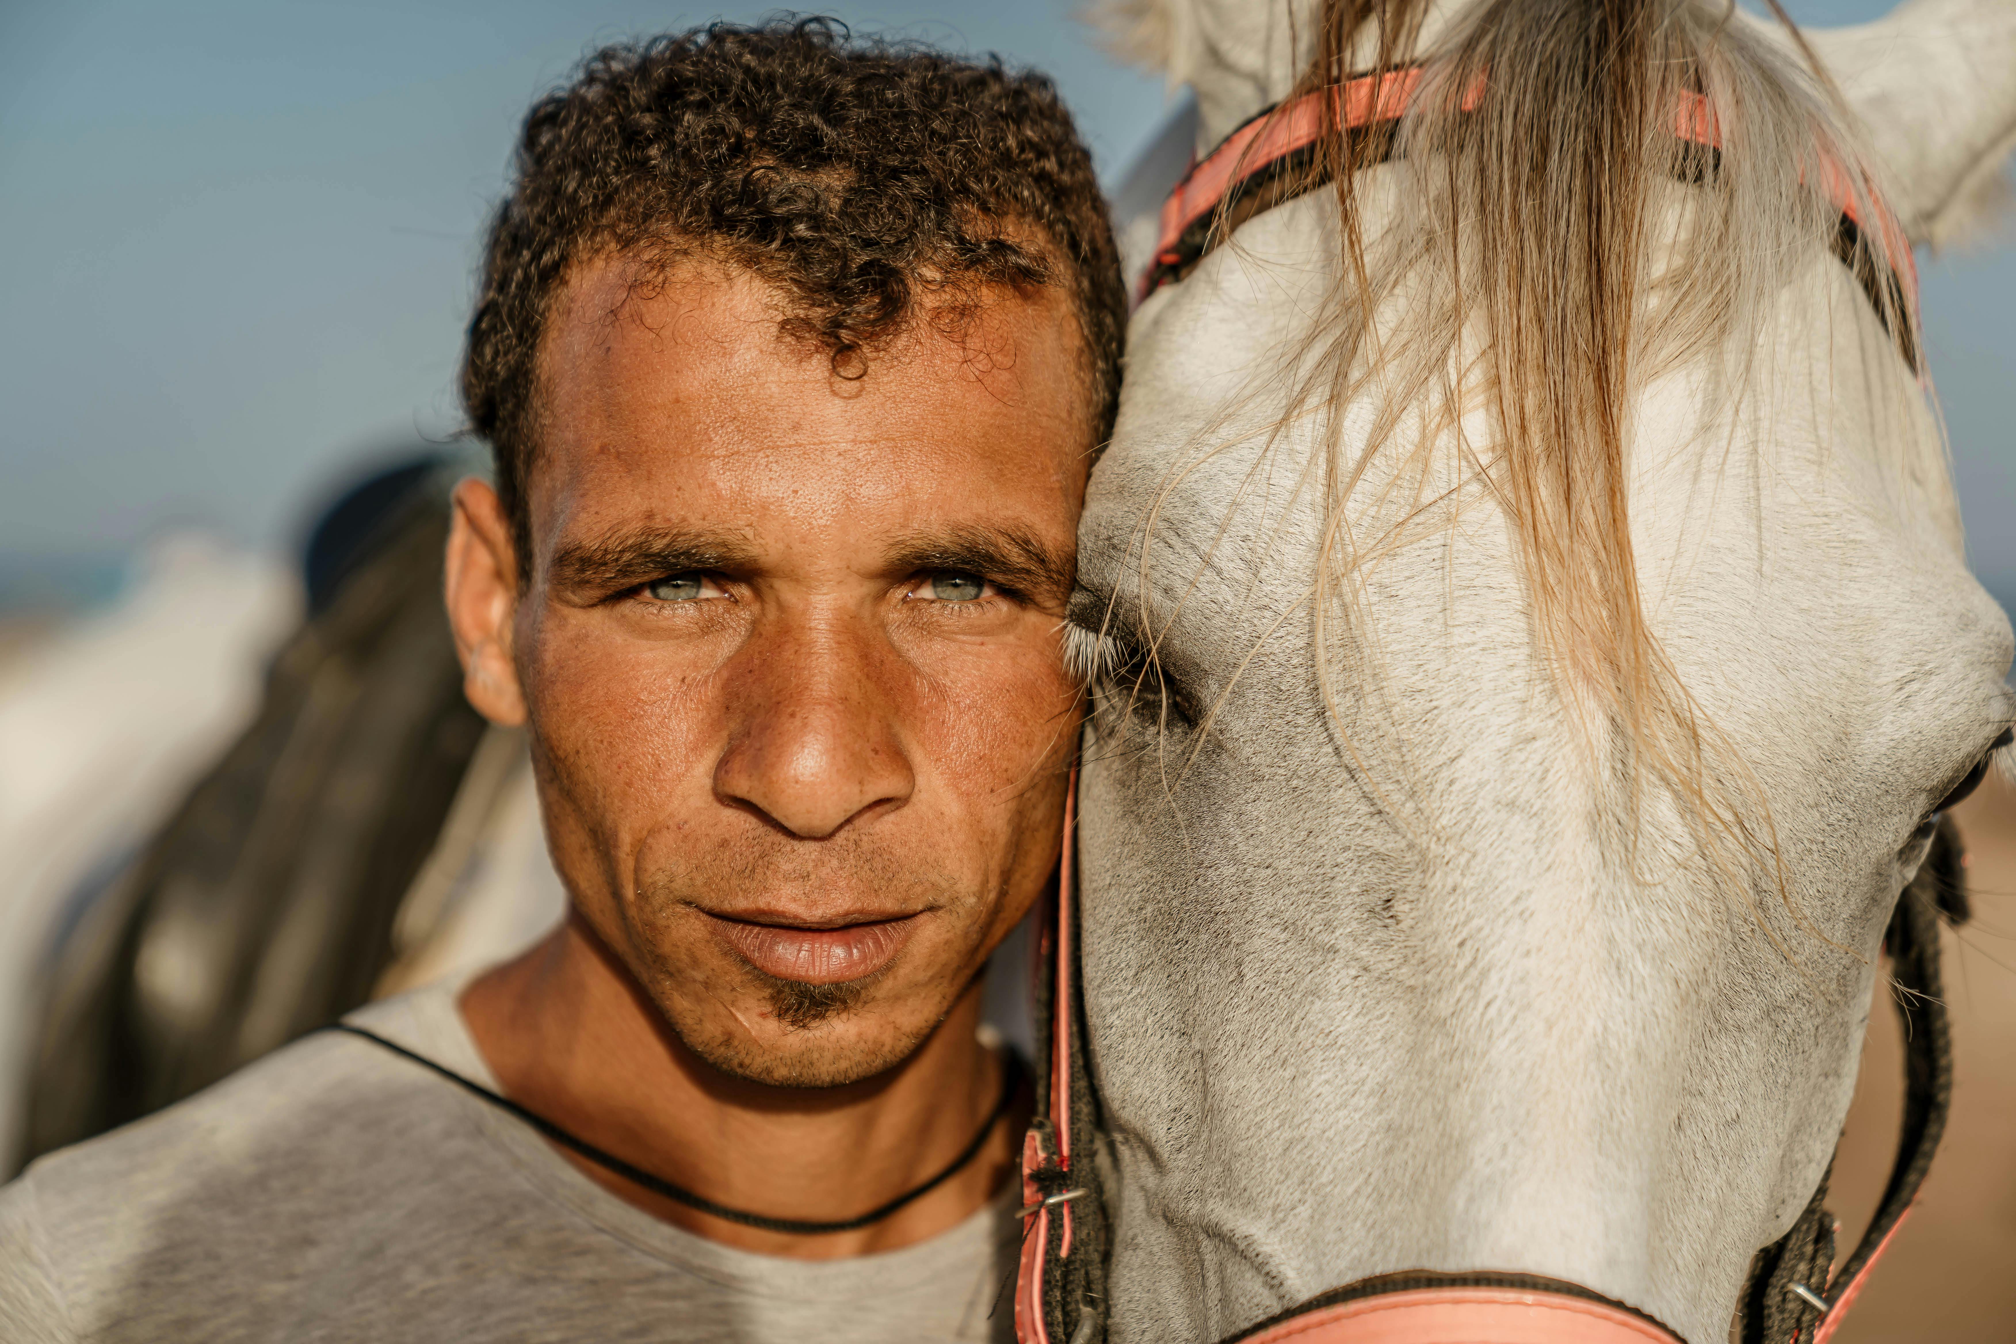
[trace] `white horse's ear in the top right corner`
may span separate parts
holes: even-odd
[[[1863,119],[1911,242],[1947,248],[1994,230],[2016,151],[2016,4],[1913,0],[1804,36]]]

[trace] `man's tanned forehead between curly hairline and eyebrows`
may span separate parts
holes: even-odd
[[[625,524],[889,514],[1075,526],[1091,449],[1083,343],[1042,290],[925,314],[835,373],[744,270],[609,258],[556,298],[540,349],[534,536]],[[843,365],[845,367],[845,365]]]

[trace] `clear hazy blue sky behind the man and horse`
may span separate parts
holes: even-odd
[[[770,8],[0,4],[0,594],[8,568],[175,524],[286,544],[359,461],[454,431],[476,234],[526,105],[603,40]],[[829,12],[1048,71],[1113,181],[1165,97],[1073,8]],[[1925,302],[1976,564],[2010,598],[2016,254],[1931,262]]]

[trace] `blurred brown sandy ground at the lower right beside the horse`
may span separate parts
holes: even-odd
[[[1990,776],[1954,818],[1974,897],[1974,921],[1945,935],[1954,1116],[1917,1207],[1835,1334],[1839,1344],[2016,1340],[2016,788]],[[1877,993],[1835,1165],[1841,1255],[1875,1211],[1903,1104],[1897,1014]]]

